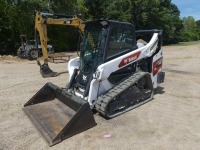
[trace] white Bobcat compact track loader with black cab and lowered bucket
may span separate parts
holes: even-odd
[[[148,43],[137,35],[152,35]],[[23,110],[50,146],[96,125],[93,111],[113,118],[153,98],[164,81],[162,31],[126,22],[85,22],[80,57],[68,63],[69,83],[47,83]]]

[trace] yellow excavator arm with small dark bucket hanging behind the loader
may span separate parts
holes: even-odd
[[[47,25],[65,25],[75,27],[80,35],[83,35],[84,24],[83,21],[76,15],[60,15],[51,13],[37,12],[35,17],[35,33],[39,34],[40,43],[42,47],[42,56],[37,59],[37,63],[40,66],[40,73],[42,77],[55,77],[58,73],[52,71],[48,65],[48,37],[47,37]],[[38,45],[38,44],[37,44]],[[44,63],[41,64],[40,61]]]

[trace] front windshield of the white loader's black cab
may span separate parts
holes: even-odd
[[[85,30],[83,46],[81,49],[81,70],[84,73],[91,72],[99,62],[99,53],[102,37],[101,26],[89,26]]]

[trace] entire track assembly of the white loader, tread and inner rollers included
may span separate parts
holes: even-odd
[[[150,100],[154,94],[150,74],[137,72],[98,97],[95,108],[106,118],[113,118]]]

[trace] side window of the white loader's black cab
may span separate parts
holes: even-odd
[[[107,58],[115,56],[133,47],[133,30],[131,28],[114,27],[111,29],[108,42]]]

